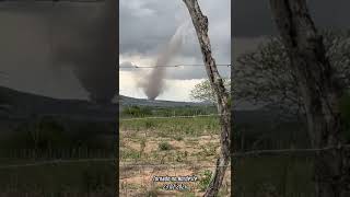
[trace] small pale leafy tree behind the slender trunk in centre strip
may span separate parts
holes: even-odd
[[[226,91],[230,92],[231,80],[223,79],[222,81]],[[210,85],[209,80],[205,80],[196,84],[195,88],[190,91],[190,97],[196,101],[217,103],[217,95],[212,86]]]

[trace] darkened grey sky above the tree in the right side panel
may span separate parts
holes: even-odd
[[[237,57],[256,50],[267,37],[276,36],[277,30],[268,0],[234,0],[232,3],[232,60],[235,65]],[[349,0],[308,0],[308,10],[318,30],[349,30]],[[254,108],[250,103],[240,102],[236,108]]]

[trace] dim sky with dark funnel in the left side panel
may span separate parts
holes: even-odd
[[[112,99],[117,89],[113,3],[0,4],[5,84],[55,97],[81,99],[85,90],[95,101]]]

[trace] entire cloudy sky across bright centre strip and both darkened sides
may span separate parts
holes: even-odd
[[[105,2],[112,2],[106,0]],[[317,27],[349,28],[349,0],[310,0]],[[267,0],[233,3],[233,60],[275,35]],[[231,1],[199,0],[209,19],[217,63],[231,62]],[[109,9],[109,10],[108,10]],[[0,85],[58,99],[110,97],[119,65],[152,66],[176,28],[189,20],[182,0],[119,0],[119,46],[114,45],[113,7],[104,3],[1,2]],[[108,20],[106,20],[108,19]],[[115,38],[117,39],[117,38]],[[50,45],[51,43],[51,45]],[[202,63],[191,24],[180,53],[170,65]],[[145,97],[137,81],[150,69],[120,69],[120,93]],[[221,68],[230,77],[230,68]],[[167,69],[166,90],[159,99],[189,101],[189,91],[206,78],[200,67]]]

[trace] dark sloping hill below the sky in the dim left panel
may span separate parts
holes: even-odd
[[[81,100],[59,100],[0,86],[0,116],[26,118],[32,115],[115,120],[117,104]]]

